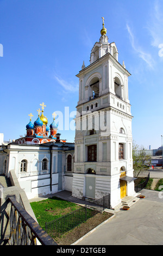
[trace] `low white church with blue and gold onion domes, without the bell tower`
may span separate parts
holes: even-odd
[[[27,135],[7,145],[0,145],[0,174],[9,176],[15,172],[28,199],[61,190],[71,191],[74,159],[74,143],[60,139],[55,113],[52,124],[40,109],[38,118],[26,125]],[[48,132],[50,130],[50,135]]]

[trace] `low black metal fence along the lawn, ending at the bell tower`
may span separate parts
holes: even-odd
[[[70,212],[70,214],[46,222],[46,233],[53,239],[82,224],[90,217],[102,212],[104,208],[110,208],[110,194],[101,199],[87,202],[84,207]]]

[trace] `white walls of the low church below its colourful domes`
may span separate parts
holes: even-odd
[[[10,170],[14,170],[28,199],[60,190],[71,191],[73,168],[69,172],[66,170],[66,159],[68,155],[72,156],[73,167],[73,148],[73,143],[53,142],[41,145],[4,145],[0,150],[0,174],[8,176]]]

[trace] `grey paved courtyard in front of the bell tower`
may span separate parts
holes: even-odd
[[[146,198],[116,212],[77,245],[163,245],[163,192],[144,189],[141,194]]]

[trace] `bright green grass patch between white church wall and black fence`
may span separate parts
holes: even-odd
[[[39,202],[32,202],[30,205],[39,225],[44,230],[46,227],[46,222],[53,221],[71,211],[80,208],[80,206],[77,204],[67,202],[57,197],[51,197]]]

